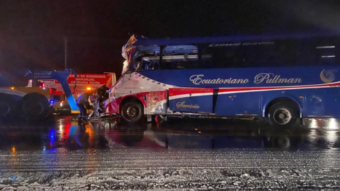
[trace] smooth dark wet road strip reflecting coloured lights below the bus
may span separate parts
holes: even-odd
[[[340,147],[339,120],[305,120],[273,129],[262,120],[171,119],[138,125],[72,118],[44,124],[1,125],[0,150],[77,149],[331,149]]]

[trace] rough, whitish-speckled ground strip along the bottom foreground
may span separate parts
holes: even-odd
[[[0,190],[340,190],[338,149],[0,151]]]

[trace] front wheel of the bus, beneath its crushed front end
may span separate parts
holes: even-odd
[[[137,122],[143,117],[143,108],[140,103],[132,101],[124,103],[120,113],[126,122]]]

